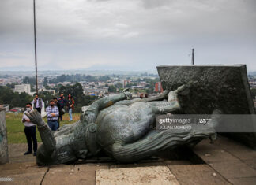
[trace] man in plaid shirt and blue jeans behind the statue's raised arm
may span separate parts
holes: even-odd
[[[54,100],[50,100],[50,105],[47,106],[47,124],[52,131],[58,129],[58,107],[55,105]]]

